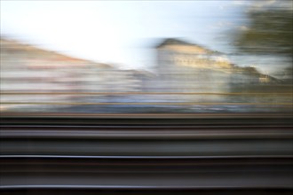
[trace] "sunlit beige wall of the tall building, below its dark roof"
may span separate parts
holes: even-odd
[[[230,62],[218,54],[193,44],[163,44],[157,48],[157,77],[150,84],[156,92],[227,93]],[[155,84],[156,83],[156,84]],[[171,100],[221,101],[220,96],[181,95]]]

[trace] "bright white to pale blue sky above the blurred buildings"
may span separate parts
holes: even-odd
[[[1,0],[1,35],[77,58],[148,69],[154,66],[154,45],[162,38],[230,52],[223,35],[244,25],[245,6],[246,1],[224,0]]]

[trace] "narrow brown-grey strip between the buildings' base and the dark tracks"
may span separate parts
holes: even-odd
[[[211,120],[211,119],[292,119],[293,113],[35,113],[35,112],[3,112],[1,119],[160,119],[160,120]]]

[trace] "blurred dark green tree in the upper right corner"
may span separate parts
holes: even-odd
[[[263,7],[253,7],[254,4],[247,12],[247,26],[234,34],[236,48],[249,54],[284,55],[292,60],[292,1],[279,0]]]

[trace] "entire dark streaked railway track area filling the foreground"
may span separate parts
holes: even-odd
[[[291,194],[290,117],[2,117],[6,194]]]

